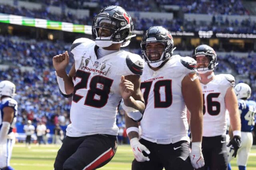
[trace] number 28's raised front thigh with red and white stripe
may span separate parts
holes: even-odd
[[[117,149],[116,136],[87,136],[63,165],[64,170],[94,170],[107,164]]]

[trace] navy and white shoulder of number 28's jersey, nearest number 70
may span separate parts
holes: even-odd
[[[142,75],[144,61],[139,55],[127,55],[126,64],[132,73],[140,76]]]

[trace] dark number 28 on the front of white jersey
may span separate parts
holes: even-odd
[[[90,77],[90,72],[85,72],[83,70],[76,71],[76,77],[81,78],[80,82],[74,86],[73,91],[73,102],[78,102],[84,96],[76,94],[79,89],[87,89],[88,79]],[[110,93],[110,87],[112,86],[113,80],[96,75],[93,76],[90,80],[89,90],[87,92],[84,105],[101,108],[104,107],[108,102],[108,94]],[[100,99],[95,99],[95,96],[98,95]]]

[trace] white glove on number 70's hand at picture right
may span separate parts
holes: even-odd
[[[202,143],[192,142],[192,149],[190,152],[191,164],[195,169],[204,166],[204,157],[202,154]]]

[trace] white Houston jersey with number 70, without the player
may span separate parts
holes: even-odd
[[[185,76],[195,72],[196,61],[179,55],[172,56],[156,71],[145,64],[140,86],[146,104],[140,122],[143,139],[159,144],[189,141],[181,83]]]

